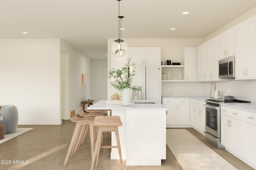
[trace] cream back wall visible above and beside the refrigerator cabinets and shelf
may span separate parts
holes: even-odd
[[[112,42],[116,38],[108,38],[108,70],[110,70],[110,53]],[[183,47],[197,47],[203,43],[201,38],[123,38],[128,47],[161,47],[161,61],[182,62]],[[108,96],[116,92],[108,79]]]

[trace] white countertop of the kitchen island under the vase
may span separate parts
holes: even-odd
[[[90,105],[88,109],[163,109],[167,107],[154,101],[155,104],[134,104],[131,102],[130,106],[122,106],[121,104],[106,104],[107,100],[100,100],[93,105]],[[142,100],[140,100],[142,101]],[[149,100],[144,100],[149,101]],[[151,100],[150,100],[151,101]]]

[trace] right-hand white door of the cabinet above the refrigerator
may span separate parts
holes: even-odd
[[[161,48],[145,47],[145,65],[160,66],[161,65]]]

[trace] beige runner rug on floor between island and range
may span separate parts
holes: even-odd
[[[166,129],[166,144],[184,170],[236,170],[186,129]]]

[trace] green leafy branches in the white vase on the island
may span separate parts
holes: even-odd
[[[127,63],[121,69],[112,68],[108,71],[108,78],[114,78],[115,83],[110,83],[115,89],[122,91],[125,88],[130,88],[134,91],[141,91],[140,87],[132,86],[132,79],[134,79],[136,72],[135,63],[131,63],[131,58],[127,59]]]

